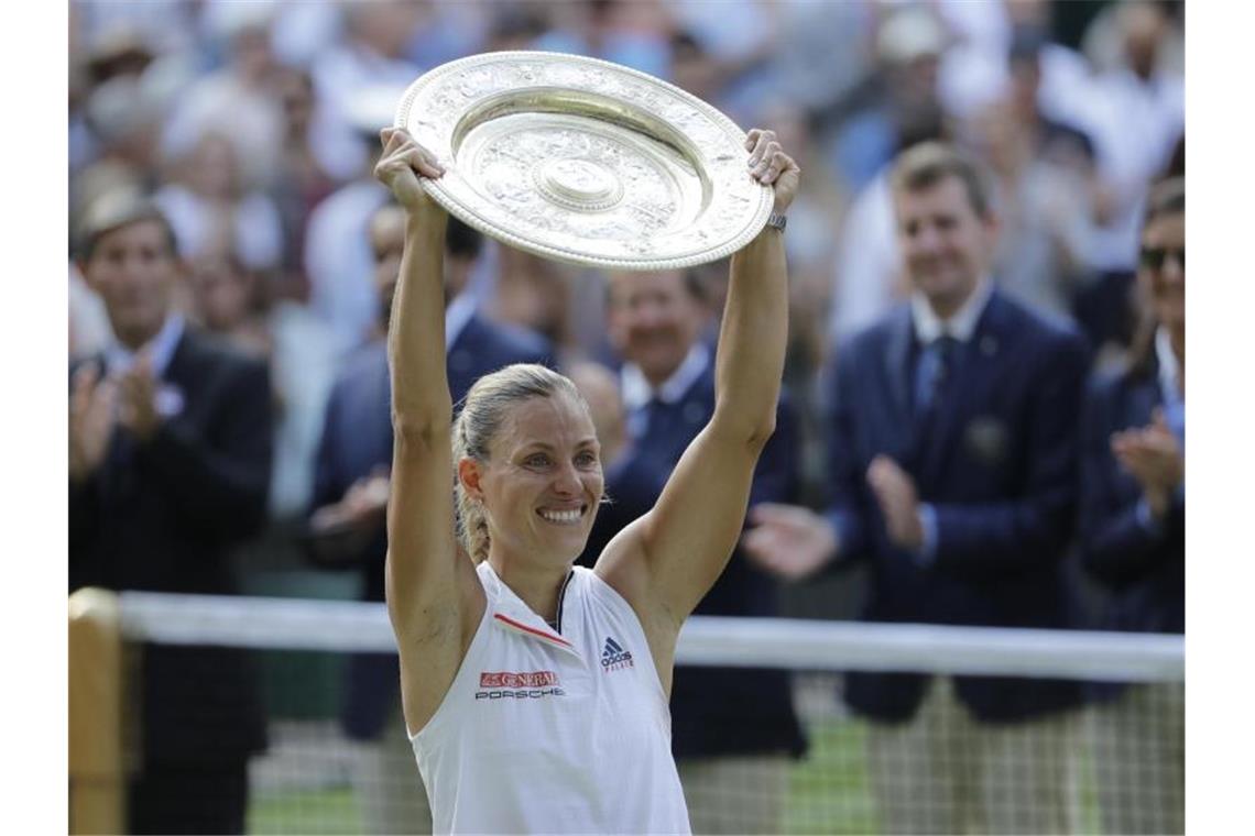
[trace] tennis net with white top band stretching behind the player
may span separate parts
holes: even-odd
[[[395,653],[382,604],[151,593],[118,602],[132,652],[252,652],[270,745],[250,766],[250,832],[420,827],[420,783],[399,709],[371,741],[350,738],[338,721],[350,654]],[[787,671],[808,738],[798,758],[681,760],[697,831],[1183,827],[1178,635],[693,617],[676,664]],[[851,672],[931,676],[912,719],[886,723],[850,709]],[[1083,682],[1092,699],[1028,722],[981,719],[966,691],[989,678]]]

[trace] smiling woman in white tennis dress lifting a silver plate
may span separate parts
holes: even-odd
[[[781,232],[764,228],[732,259],[710,422],[654,509],[592,570],[572,569],[602,499],[589,409],[566,377],[508,366],[452,420],[447,216],[418,182],[443,172],[405,132],[383,140],[375,175],[407,212],[388,337],[388,610],[433,825],[686,832],[666,708],[675,642],[740,534],[772,434],[787,336]],[[783,213],[797,165],[769,130],[752,130],[747,148]]]

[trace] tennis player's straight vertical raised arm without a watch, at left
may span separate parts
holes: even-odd
[[[404,130],[385,129],[382,139],[375,177],[405,209],[405,248],[388,328],[393,469],[385,578],[405,719],[417,732],[453,682],[464,637],[482,614],[483,590],[458,549],[453,518],[453,402],[444,356],[448,216],[418,182],[443,172]]]

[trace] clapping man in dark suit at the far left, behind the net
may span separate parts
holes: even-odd
[[[72,370],[70,589],[235,593],[228,550],[266,511],[266,366],[172,311],[181,263],[149,201],[102,196],[80,269],[115,341]],[[245,653],[146,647],[138,683],[128,832],[243,832],[247,761],[265,746]]]

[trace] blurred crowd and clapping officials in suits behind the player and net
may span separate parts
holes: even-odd
[[[72,3],[72,587],[232,593],[257,569],[319,567],[360,573],[361,595],[383,600],[403,217],[371,177],[379,129],[423,71],[536,49],[666,79],[776,130],[803,170],[786,396],[744,545],[698,613],[781,614],[778,584],[851,556],[873,565],[873,620],[1183,632],[1182,5]],[[895,165],[911,148],[934,154],[914,179]],[[978,162],[979,188],[955,152]],[[902,196],[948,184],[905,239]],[[927,227],[950,216],[974,236],[950,254],[981,280],[959,297],[921,282],[927,236],[950,234]],[[584,392],[614,500],[595,560],[710,415],[727,262],[609,274],[453,222],[446,273],[454,402],[517,361]],[[926,312],[948,292],[954,322]],[[959,402],[969,412],[946,419]],[[136,832],[240,832],[243,765],[265,738],[248,661],[171,649],[146,664]],[[379,790],[398,758],[413,770],[395,658],[350,668],[364,820],[429,827],[417,771]],[[179,707],[205,694],[227,731],[188,731]],[[884,724],[868,757],[895,768],[895,751],[922,746],[911,723],[960,703],[973,739],[996,729],[985,750],[1023,733],[1012,748],[1049,755],[1071,732],[1034,728],[1098,701],[1113,707],[1102,733],[1136,736],[1117,708],[1145,694],[866,676],[845,697]],[[673,718],[694,827],[772,831],[784,766],[807,748],[786,678],[680,669]],[[231,805],[195,802],[206,751]],[[986,810],[999,832],[1065,827],[1047,755],[1039,795],[1015,807],[1042,817]],[[924,776],[896,780],[904,797],[882,798],[896,826],[961,828],[920,812]],[[748,781],[757,793],[709,790]],[[1178,811],[1156,811],[1137,825],[1180,830]]]

